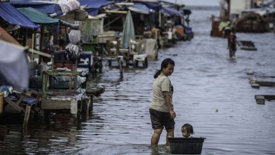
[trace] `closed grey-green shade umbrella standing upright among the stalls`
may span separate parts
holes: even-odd
[[[131,15],[131,12],[128,11],[124,25],[123,25],[121,47],[128,48],[130,39],[136,40],[136,35],[135,35],[135,28],[134,28],[132,15]]]

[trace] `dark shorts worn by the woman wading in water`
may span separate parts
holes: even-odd
[[[152,128],[163,129],[163,126],[166,130],[172,129],[175,126],[175,121],[172,119],[170,112],[161,112],[154,109],[149,109],[150,118],[152,123]]]

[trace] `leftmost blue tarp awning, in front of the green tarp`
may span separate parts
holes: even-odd
[[[12,26],[20,25],[21,28],[32,30],[40,28],[9,3],[0,3],[0,17]]]

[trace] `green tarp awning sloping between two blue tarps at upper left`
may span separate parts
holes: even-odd
[[[65,22],[60,19],[51,18],[47,14],[40,12],[34,8],[17,8],[22,14],[30,18],[36,24],[58,24],[60,22],[61,25],[66,27],[78,30],[79,26],[75,24],[71,24]]]

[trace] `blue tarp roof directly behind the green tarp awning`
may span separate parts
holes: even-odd
[[[62,15],[62,10],[59,4],[56,3],[45,3],[45,2],[36,2],[36,1],[12,1],[10,2],[15,8],[34,8],[46,14],[56,13],[58,16]]]

